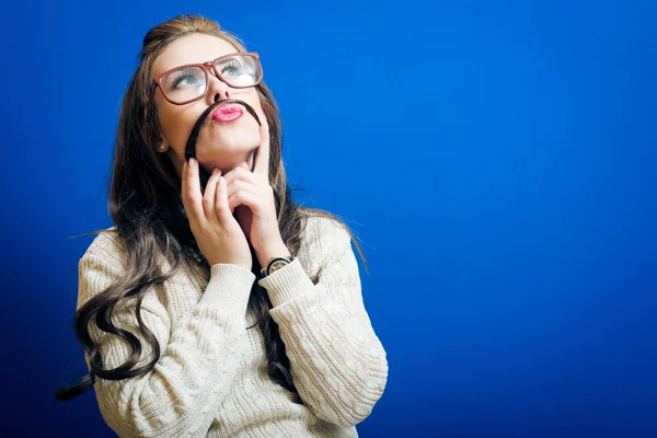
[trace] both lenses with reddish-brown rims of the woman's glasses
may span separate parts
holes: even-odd
[[[233,88],[251,87],[262,76],[258,62],[249,55],[235,55],[219,59],[215,68],[223,81]],[[200,67],[183,67],[162,78],[162,89],[174,102],[185,102],[203,95],[206,91],[206,71]]]

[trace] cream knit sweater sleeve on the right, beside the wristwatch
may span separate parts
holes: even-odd
[[[365,310],[358,264],[349,234],[320,218],[312,247],[258,280],[267,289],[290,359],[290,372],[304,404],[342,426],[362,422],[383,393],[388,360]],[[300,257],[324,266],[313,285]]]

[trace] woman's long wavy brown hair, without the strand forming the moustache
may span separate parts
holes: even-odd
[[[116,150],[112,178],[110,182],[108,208],[116,228],[95,230],[80,235],[115,232],[120,239],[126,254],[126,269],[107,289],[92,297],[78,309],[73,316],[73,332],[90,358],[90,372],[73,384],[64,384],[58,389],[58,400],[70,400],[93,387],[95,378],[120,380],[149,372],[160,358],[158,341],[143,324],[141,300],[146,290],[154,284],[171,278],[182,263],[196,263],[192,249],[195,246],[194,235],[180,210],[177,196],[181,191],[180,177],[169,157],[155,152],[160,138],[158,114],[154,105],[147,105],[152,83],[152,66],[154,59],[174,39],[191,34],[203,33],[215,35],[231,43],[238,51],[246,51],[241,39],[222,30],[220,25],[199,15],[178,15],[151,28],[143,38],[139,53],[139,66],[135,71],[123,99],[116,136]],[[301,245],[303,220],[309,216],[322,216],[336,220],[351,235],[358,253],[362,258],[366,272],[367,262],[360,245],[339,217],[324,210],[301,207],[291,199],[296,189],[287,185],[281,161],[283,138],[279,108],[264,81],[256,85],[262,108],[269,125],[269,184],[274,189],[276,211],[280,234],[291,254],[296,254]],[[252,247],[253,253],[253,247]],[[171,270],[163,274],[157,262],[157,254],[164,254]],[[201,263],[209,277],[210,266]],[[257,276],[261,266],[257,257],[253,257],[252,272]],[[320,270],[311,278],[316,285]],[[116,327],[112,322],[112,310],[127,298],[137,297],[135,308],[139,330],[145,339],[151,344],[154,357],[142,367],[135,368],[140,361],[141,343],[131,333]],[[254,281],[249,308],[255,310],[257,322],[264,335],[268,374],[284,388],[296,392],[290,373],[289,359],[285,354],[285,344],[280,338],[278,326],[269,315],[272,302],[266,289]],[[93,318],[95,316],[95,318]],[[120,336],[131,346],[132,354],[124,365],[105,370],[101,349],[91,338],[90,322],[95,323],[105,333]]]

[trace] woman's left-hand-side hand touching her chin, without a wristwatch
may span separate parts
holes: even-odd
[[[198,161],[192,158],[183,164],[181,196],[189,227],[198,249],[210,266],[230,263],[251,270],[251,249],[231,214],[227,183],[221,183],[220,176],[221,170],[215,169],[201,194]]]

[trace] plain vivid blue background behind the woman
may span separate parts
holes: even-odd
[[[198,12],[261,54],[298,199],[362,241],[390,378],[361,436],[657,436],[655,3],[309,3],[4,10],[0,433],[113,435],[54,396],[85,372],[69,238],[112,224],[145,33]]]

